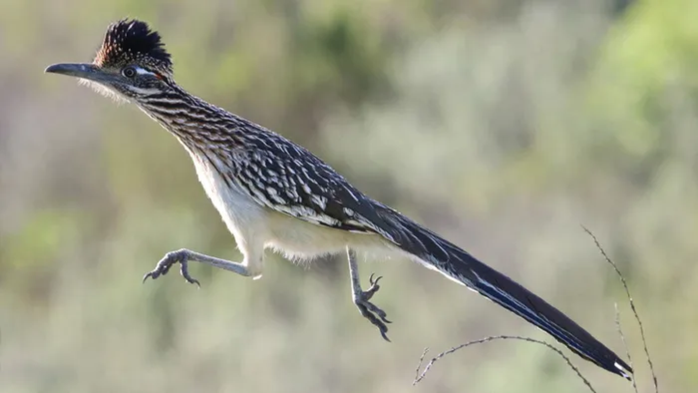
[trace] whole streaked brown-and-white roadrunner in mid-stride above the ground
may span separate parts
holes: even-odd
[[[170,54],[146,23],[114,22],[92,63],[54,64],[45,72],[77,77],[102,94],[133,101],[170,131],[191,156],[199,181],[244,256],[242,262],[231,262],[180,249],[166,253],[143,281],[157,279],[179,263],[181,275],[198,285],[188,262],[258,278],[265,249],[291,260],[346,252],[353,302],[388,340],[389,320],[370,301],[380,277],[371,274],[370,287],[362,290],[357,253],[403,256],[479,292],[584,359],[630,379],[632,369],[623,359],[519,283],[367,197],[310,151],[179,87]]]

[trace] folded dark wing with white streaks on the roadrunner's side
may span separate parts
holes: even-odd
[[[309,223],[352,232],[377,233],[392,241],[381,227],[378,202],[364,195],[310,151],[273,135],[255,140],[240,154],[232,173],[235,181],[260,205]]]

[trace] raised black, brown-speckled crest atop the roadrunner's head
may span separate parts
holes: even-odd
[[[152,31],[147,23],[124,19],[110,24],[94,64],[120,68],[134,62],[162,73],[172,73],[170,54],[160,34]]]

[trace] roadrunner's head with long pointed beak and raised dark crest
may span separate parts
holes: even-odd
[[[91,63],[61,63],[47,73],[80,78],[106,96],[138,100],[170,89],[172,61],[160,35],[140,20],[120,20],[107,27]]]

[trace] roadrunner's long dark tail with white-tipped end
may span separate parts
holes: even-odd
[[[387,213],[387,212],[386,212]],[[386,232],[403,251],[543,329],[574,353],[630,380],[632,369],[561,311],[458,246],[399,214],[383,215]]]

